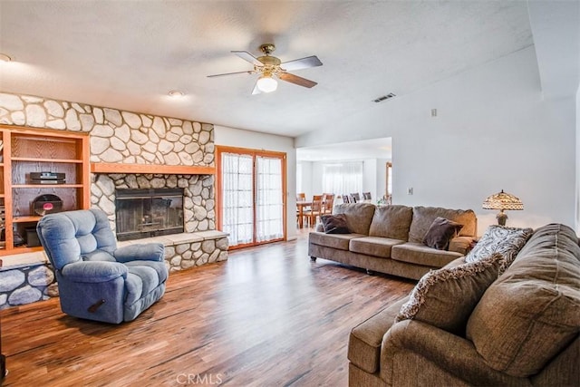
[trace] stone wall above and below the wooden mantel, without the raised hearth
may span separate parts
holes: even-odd
[[[107,212],[113,229],[115,186],[162,184],[187,184],[187,232],[216,229],[213,176],[153,175],[155,165],[214,166],[211,124],[8,93],[0,93],[0,123],[88,132],[91,162],[150,165],[151,175],[92,175],[92,206]]]

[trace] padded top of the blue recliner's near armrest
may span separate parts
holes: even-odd
[[[122,276],[127,277],[127,266],[119,262],[87,261],[65,265],[61,274],[67,280],[82,283],[102,283]]]

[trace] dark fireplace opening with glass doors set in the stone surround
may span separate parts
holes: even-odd
[[[117,189],[117,239],[183,232],[183,189]]]

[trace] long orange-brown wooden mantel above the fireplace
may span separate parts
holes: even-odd
[[[157,173],[162,175],[215,175],[216,167],[92,162],[92,173]]]

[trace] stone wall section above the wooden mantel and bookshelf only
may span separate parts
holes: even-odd
[[[195,121],[0,93],[0,123],[91,133],[91,161],[214,165],[214,127]]]

